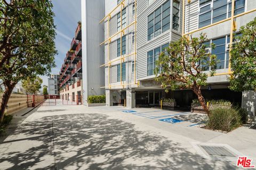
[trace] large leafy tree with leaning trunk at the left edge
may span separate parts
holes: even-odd
[[[55,66],[55,25],[50,0],[0,0],[0,79],[5,91],[0,124],[15,85],[50,74]]]

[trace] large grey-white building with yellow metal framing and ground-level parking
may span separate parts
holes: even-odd
[[[251,21],[255,11],[254,0],[105,0],[105,40],[101,43],[105,64],[101,66],[105,67],[107,105],[154,106],[168,97],[175,98],[180,109],[189,108],[196,98],[193,91],[166,94],[154,81],[155,62],[171,41],[181,36],[198,37],[203,32],[216,45],[209,50],[220,61],[217,74],[207,79],[203,95],[245,107],[255,93],[228,89],[229,41],[233,39],[230,32]],[[255,113],[255,101],[250,102],[250,111]]]

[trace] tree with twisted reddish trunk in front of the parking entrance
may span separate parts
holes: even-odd
[[[171,42],[165,52],[159,55],[156,62],[156,81],[162,83],[166,91],[169,89],[191,89],[197,95],[199,103],[210,115],[209,108],[201,92],[201,87],[206,86],[206,68],[211,67],[210,75],[215,72],[216,56],[206,51],[207,39],[205,34],[199,38],[182,37]],[[209,45],[214,48],[214,44]],[[210,59],[210,60],[209,60]]]

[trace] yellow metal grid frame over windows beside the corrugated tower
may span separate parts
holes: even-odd
[[[121,3],[119,3],[110,13],[108,13],[108,15],[106,15],[101,21],[100,23],[104,22],[106,19],[107,19],[107,27],[108,27],[108,38],[105,39],[100,45],[103,45],[105,43],[108,43],[108,62],[101,65],[102,66],[108,66],[108,86],[105,86],[105,87],[101,87],[101,88],[110,88],[111,87],[117,87],[117,86],[129,86],[129,85],[134,85],[134,84],[137,84],[138,86],[138,82],[136,80],[136,60],[137,60],[137,0],[134,0],[134,7],[135,7],[135,13],[134,13],[134,22],[130,23],[129,25],[127,25],[125,28],[123,28],[123,20],[122,20],[122,12],[123,12],[123,8],[125,6],[125,0],[123,0]],[[129,5],[129,3],[127,3]],[[111,18],[111,14],[114,13],[116,10],[120,10],[120,21],[121,21],[121,29],[119,31],[117,31],[116,33],[114,33],[114,35],[112,35],[110,37],[110,31],[109,31],[109,22],[110,22],[110,18]],[[124,31],[128,28],[130,28],[132,25],[134,25],[134,53],[132,54],[129,54],[129,55],[126,55],[126,56],[123,56],[122,54],[122,37],[123,37],[123,34],[124,34]],[[111,60],[110,61],[110,43],[111,43],[111,39],[117,35],[120,35],[120,58],[117,58],[116,60]],[[129,56],[134,56],[134,83],[126,83],[126,84],[123,84],[123,81],[122,81],[122,63],[123,63],[123,60],[124,58],[126,57],[129,57]],[[111,63],[113,62],[116,62],[120,60],[120,84],[118,85],[111,85],[110,84],[110,67],[111,67]]]

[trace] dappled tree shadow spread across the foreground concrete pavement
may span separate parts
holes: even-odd
[[[26,138],[8,139],[3,143],[7,150],[0,156],[0,167],[118,170],[236,168],[229,162],[202,159],[162,135],[137,130],[131,123],[103,114],[47,116],[22,124],[15,134]],[[35,144],[27,149],[12,151],[9,147],[16,142]],[[8,146],[9,143],[12,145]]]

